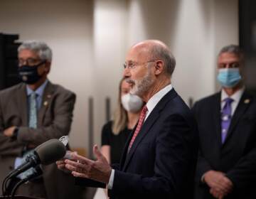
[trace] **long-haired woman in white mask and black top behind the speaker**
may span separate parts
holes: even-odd
[[[130,90],[131,84],[122,79],[119,83],[119,97],[114,118],[102,128],[101,151],[110,164],[119,163],[124,145],[137,124],[144,104],[140,97],[130,94]],[[98,189],[95,199],[103,195],[102,189]]]

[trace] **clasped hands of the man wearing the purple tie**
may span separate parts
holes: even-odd
[[[233,189],[233,183],[220,171],[206,172],[204,181],[210,187],[210,194],[218,199],[224,198]]]

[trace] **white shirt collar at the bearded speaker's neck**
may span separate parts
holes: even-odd
[[[159,92],[156,92],[155,95],[153,95],[149,101],[146,103],[146,107],[148,109],[148,112],[150,113],[154,107],[156,107],[156,104],[166,95],[167,92],[172,90],[172,85],[167,85],[163,89],[159,90]]]

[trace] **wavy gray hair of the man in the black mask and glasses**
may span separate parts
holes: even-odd
[[[52,50],[49,48],[49,46],[46,43],[42,41],[24,41],[18,47],[18,53],[24,49],[32,50],[38,53],[38,56],[41,60],[47,60],[48,62],[51,62],[52,60],[52,56],[53,56]]]

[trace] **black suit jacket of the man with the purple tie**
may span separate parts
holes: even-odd
[[[228,198],[256,198],[256,100],[244,92],[233,114],[224,144],[220,135],[220,92],[193,107],[199,129],[196,199],[212,198],[201,183],[203,173],[223,171],[234,184]]]

